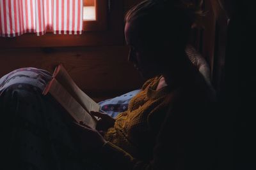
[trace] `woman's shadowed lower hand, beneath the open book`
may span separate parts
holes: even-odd
[[[107,142],[97,130],[85,124],[74,122],[72,123],[71,129],[74,138],[77,139],[77,145],[83,153],[101,148]]]

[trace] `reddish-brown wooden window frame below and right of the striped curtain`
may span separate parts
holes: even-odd
[[[124,1],[112,0],[111,10],[108,6],[108,0],[95,0],[96,20],[84,20],[81,35],[47,32],[43,36],[0,37],[0,48],[124,45]]]

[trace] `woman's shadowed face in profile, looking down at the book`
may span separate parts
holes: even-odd
[[[140,71],[143,78],[152,78],[160,74],[157,67],[157,56],[154,50],[147,48],[143,39],[140,39],[138,22],[132,21],[125,24],[125,40],[130,46],[128,60]]]

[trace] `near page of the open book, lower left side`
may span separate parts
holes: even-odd
[[[76,120],[76,122],[84,122],[84,124],[96,128],[97,120],[91,116],[84,108],[77,103],[74,97],[63,88],[63,86],[53,78],[51,80],[51,88],[49,93],[58,101],[65,110]]]

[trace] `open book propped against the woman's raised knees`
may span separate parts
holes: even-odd
[[[65,110],[76,120],[95,129],[97,118],[90,111],[99,111],[99,104],[77,87],[65,68],[58,65],[52,75],[52,80],[46,85],[43,94],[51,94]]]

